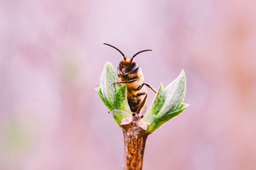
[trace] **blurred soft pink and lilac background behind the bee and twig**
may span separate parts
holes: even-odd
[[[155,88],[186,73],[190,106],[148,137],[144,170],[255,170],[255,6],[1,0],[0,170],[122,169],[122,130],[95,91],[122,56],[102,43],[153,49],[135,61]]]

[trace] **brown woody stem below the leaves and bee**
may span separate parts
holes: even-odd
[[[131,120],[122,125],[124,137],[124,170],[142,170],[146,133],[139,125],[140,121]]]

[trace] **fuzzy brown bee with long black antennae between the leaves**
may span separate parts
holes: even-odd
[[[103,43],[105,45],[109,45]],[[152,51],[152,50],[143,50],[139,51],[134,54],[133,57],[127,58],[124,56],[122,51],[116,48],[113,45],[109,45],[115,48],[122,54],[123,60],[119,63],[117,68],[118,77],[121,79],[120,82],[116,82],[114,84],[122,83],[127,85],[127,101],[130,106],[130,109],[133,113],[140,114],[142,108],[146,103],[147,98],[147,91],[144,87],[146,85],[149,89],[156,93],[156,90],[147,83],[144,83],[144,76],[139,68],[139,65],[133,61],[134,57],[138,54],[145,52],[145,51]]]

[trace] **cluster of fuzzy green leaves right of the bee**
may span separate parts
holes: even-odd
[[[158,129],[165,122],[182,113],[189,104],[183,100],[186,91],[186,77],[184,70],[165,89],[160,84],[154,101],[145,113],[143,120],[150,123],[147,132]]]

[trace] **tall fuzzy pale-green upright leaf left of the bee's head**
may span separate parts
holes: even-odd
[[[102,96],[107,99],[110,104],[114,104],[114,95],[121,87],[121,84],[113,84],[119,82],[120,79],[110,62],[106,62],[100,77],[100,89]]]

